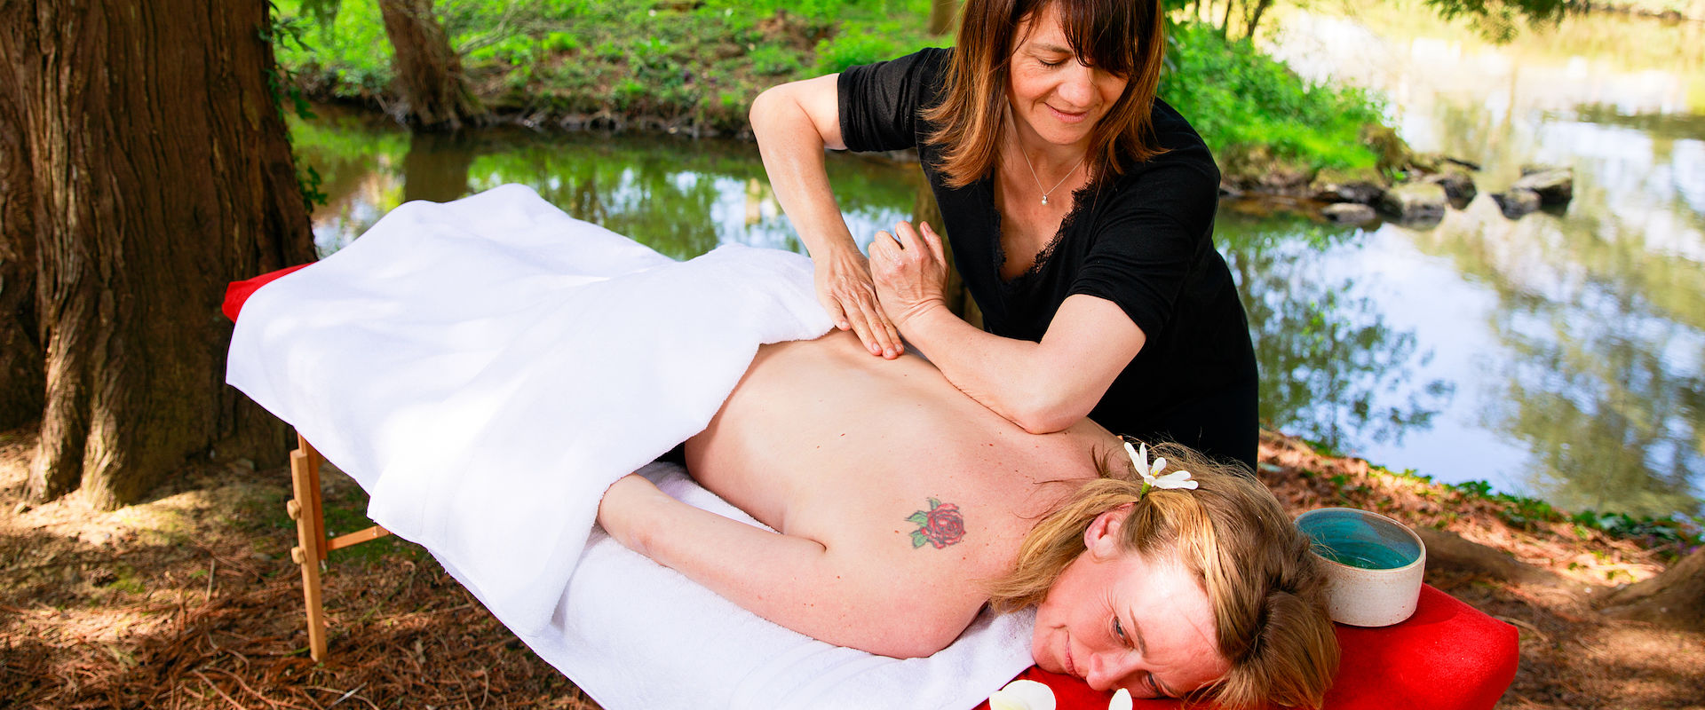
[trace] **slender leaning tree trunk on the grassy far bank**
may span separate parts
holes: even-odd
[[[484,116],[479,99],[467,89],[462,58],[431,15],[431,0],[379,0],[379,12],[396,49],[390,66],[402,104],[392,114],[399,121],[454,131]]]

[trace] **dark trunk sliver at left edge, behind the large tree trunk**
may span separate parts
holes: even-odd
[[[0,2],[0,14],[7,3]],[[12,66],[22,58],[3,54]],[[36,235],[29,153],[12,94],[0,94],[0,431],[41,417],[41,334],[36,322]]]

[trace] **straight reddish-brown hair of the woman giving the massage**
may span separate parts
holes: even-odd
[[[936,169],[948,187],[965,187],[994,170],[1013,44],[1023,39],[1018,27],[1049,5],[1059,7],[1061,29],[1081,61],[1129,80],[1089,133],[1091,172],[1122,174],[1120,158],[1142,162],[1163,152],[1153,143],[1151,119],[1166,54],[1159,0],[967,0],[943,99],[922,114],[936,124],[929,143],[946,148]]]

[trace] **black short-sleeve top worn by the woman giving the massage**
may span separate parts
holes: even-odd
[[[1079,189],[1037,266],[1006,281],[992,175],[946,187],[934,167],[939,146],[928,141],[934,126],[919,116],[939,100],[951,51],[924,49],[841,73],[841,135],[849,150],[917,148],[984,327],[1040,342],[1066,296],[1105,298],[1147,341],[1091,412],[1096,422],[1134,436],[1166,432],[1166,410],[1233,388],[1246,390],[1253,414],[1248,320],[1212,242],[1219,169],[1195,129],[1156,99],[1154,136],[1166,152]]]

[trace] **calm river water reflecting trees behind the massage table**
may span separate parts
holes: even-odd
[[[1565,20],[1494,46],[1424,12],[1282,19],[1274,51],[1384,92],[1417,150],[1482,163],[1429,228],[1340,228],[1228,203],[1267,426],[1393,470],[1565,509],[1700,514],[1705,499],[1705,32]],[[406,199],[522,182],[675,257],[800,250],[757,148],[530,131],[409,136],[353,116],[295,126],[324,177],[322,254]],[[1523,163],[1570,165],[1563,209],[1504,218]],[[916,165],[830,155],[861,242],[910,220]]]

